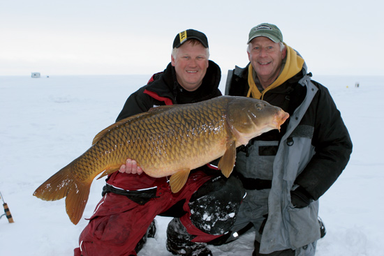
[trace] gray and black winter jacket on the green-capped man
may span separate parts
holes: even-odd
[[[247,76],[248,66],[230,70],[226,94],[245,96],[249,88]],[[289,103],[290,107],[285,105],[290,112],[285,133],[279,140],[256,137],[245,151],[237,152],[235,167],[236,172],[252,182],[256,179],[272,181],[269,189],[247,190],[239,213],[239,218],[249,218],[256,227],[267,214],[262,235],[256,232],[260,253],[265,254],[288,248],[298,253],[299,248],[320,239],[318,198],[336,181],[352,152],[348,130],[329,91],[311,80],[305,63],[300,73],[279,87],[269,93],[284,93],[284,88],[290,88],[285,90],[285,98],[299,99]],[[266,94],[264,100],[268,99]],[[275,146],[275,155],[262,156],[263,146]],[[309,206],[301,209],[295,208],[290,201],[290,191],[297,186],[307,190],[312,199]]]

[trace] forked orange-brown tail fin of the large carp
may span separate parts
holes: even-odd
[[[34,196],[45,201],[66,197],[66,212],[73,224],[79,223],[89,197],[90,181],[79,181],[73,175],[73,162],[53,174],[34,192]]]

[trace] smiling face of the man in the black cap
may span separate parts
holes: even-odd
[[[177,50],[176,57],[171,57],[175,67],[177,82],[187,91],[195,91],[202,84],[207,73],[207,49],[200,43],[186,41]]]

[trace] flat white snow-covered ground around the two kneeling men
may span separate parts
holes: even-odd
[[[101,199],[104,179],[91,186],[77,225],[66,215],[64,199],[45,202],[32,194],[87,150],[94,135],[115,121],[126,98],[149,77],[0,76],[0,191],[15,220],[10,224],[6,217],[0,219],[1,255],[73,255],[87,225],[84,218],[91,216]],[[313,79],[330,89],[354,145],[346,170],[320,198],[327,235],[318,241],[316,255],[384,255],[384,77]],[[359,88],[355,82],[360,82]],[[140,256],[170,255],[165,248],[170,218],[156,220],[156,237],[148,239]],[[212,247],[215,256],[252,251],[253,233]]]

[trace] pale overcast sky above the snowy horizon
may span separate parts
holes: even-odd
[[[276,24],[316,75],[384,75],[384,3],[365,1],[1,0],[0,75],[152,74],[172,41],[204,32],[223,74],[248,63],[257,24]]]

